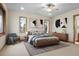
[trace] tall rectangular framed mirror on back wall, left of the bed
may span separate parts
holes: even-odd
[[[19,32],[25,33],[27,30],[27,18],[20,16],[19,17]]]

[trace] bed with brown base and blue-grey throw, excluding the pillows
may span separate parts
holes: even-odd
[[[29,35],[28,42],[34,47],[43,47],[59,43],[59,38],[49,34]]]

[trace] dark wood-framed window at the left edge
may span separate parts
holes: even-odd
[[[5,34],[5,10],[0,4],[0,36]]]

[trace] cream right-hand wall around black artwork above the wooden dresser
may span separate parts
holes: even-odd
[[[64,14],[52,17],[52,32],[58,31],[60,32],[60,28],[55,27],[55,21],[57,19],[64,20],[65,17],[67,17],[68,23],[67,23],[67,33],[69,34],[69,41],[73,42],[73,15],[79,14],[79,9],[75,9],[69,12],[66,12]]]

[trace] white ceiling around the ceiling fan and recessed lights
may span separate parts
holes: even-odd
[[[44,3],[6,3],[6,5],[11,11],[27,12],[48,17],[63,14],[65,12],[79,8],[79,3],[54,3],[55,8],[57,8],[57,10],[53,10],[50,15],[49,12],[47,12],[43,8],[43,6],[45,6]],[[23,11],[20,10],[21,6],[24,7]]]

